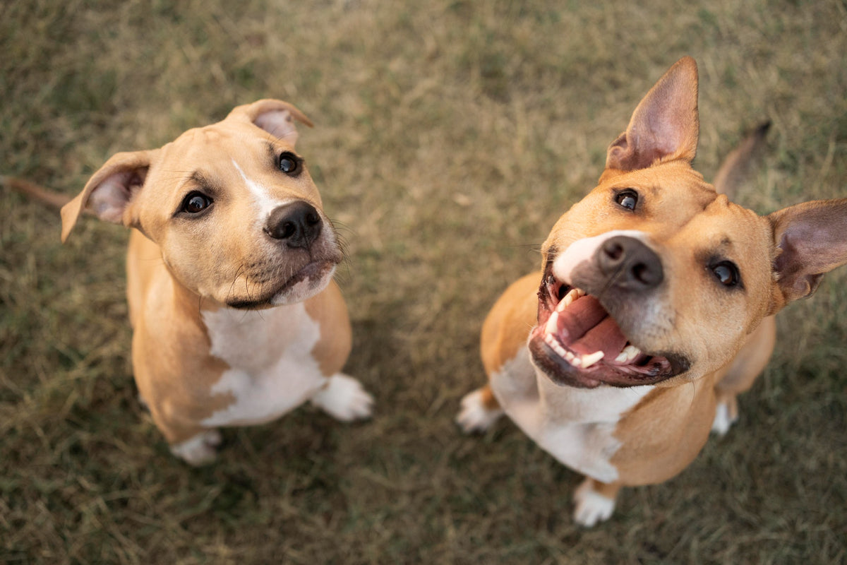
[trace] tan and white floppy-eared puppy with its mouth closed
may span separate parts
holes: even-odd
[[[174,455],[215,457],[219,426],[260,424],[307,400],[340,420],[372,397],[340,372],[351,348],[332,277],[343,255],[278,100],[158,149],[121,152],[62,208],[135,228],[127,255],[132,361]]]

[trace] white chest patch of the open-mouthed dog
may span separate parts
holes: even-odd
[[[509,418],[542,449],[604,483],[618,476],[610,463],[621,446],[613,435],[617,422],[653,389],[555,385],[545,374],[537,374],[525,347],[491,376],[491,387]]]

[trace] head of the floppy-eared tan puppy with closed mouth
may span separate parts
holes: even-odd
[[[147,235],[204,299],[261,308],[317,294],[342,253],[295,151],[295,121],[312,125],[260,100],[158,149],[117,153],[62,209],[62,241],[89,210]]]

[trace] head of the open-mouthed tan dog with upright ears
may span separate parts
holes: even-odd
[[[760,217],[692,169],[698,130],[697,68],[684,58],[612,142],[599,185],[553,227],[529,349],[554,382],[700,378],[847,262],[847,199]]]

